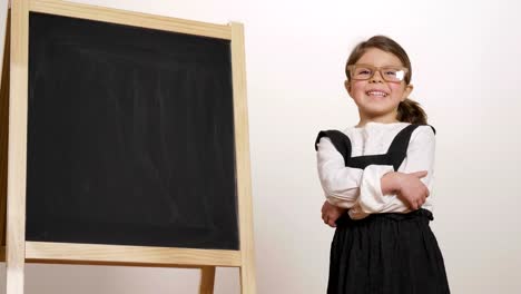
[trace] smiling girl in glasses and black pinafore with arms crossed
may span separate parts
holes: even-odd
[[[407,55],[392,39],[357,45],[345,88],[360,121],[316,139],[322,218],[336,226],[328,294],[450,293],[429,227],[435,130],[407,98],[411,74]]]

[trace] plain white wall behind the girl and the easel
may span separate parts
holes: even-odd
[[[79,1],[245,23],[258,293],[325,293],[333,231],[320,218],[313,143],[357,122],[343,67],[376,33],[407,50],[412,98],[438,130],[432,227],[452,293],[521,293],[519,1]],[[184,294],[198,283],[188,270],[26,268],[29,294]],[[239,293],[238,271],[219,268],[216,293]]]

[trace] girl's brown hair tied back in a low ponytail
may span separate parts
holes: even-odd
[[[347,66],[354,65],[356,61],[358,61],[358,59],[370,48],[376,48],[396,56],[400,59],[400,61],[402,61],[402,65],[409,69],[407,74],[405,75],[405,85],[409,85],[411,82],[412,67],[407,53],[397,42],[385,36],[374,36],[367,41],[358,43],[353,49],[345,65],[345,75],[347,76],[347,79],[350,79],[351,77]],[[400,102],[396,119],[400,121],[411,124],[427,124],[427,116],[425,114],[425,110],[423,110],[419,102],[409,98]]]

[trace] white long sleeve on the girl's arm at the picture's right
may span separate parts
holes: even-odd
[[[407,147],[407,155],[399,168],[399,171],[406,174],[427,170],[427,176],[421,180],[425,184],[431,195],[434,179],[434,133],[430,126],[421,126],[413,133]],[[405,213],[410,210],[409,206],[397,198],[396,195],[382,194],[380,186],[381,178],[390,171],[393,171],[392,166],[371,165],[365,168],[364,173],[370,173],[371,176],[364,176],[364,180],[361,182],[360,186],[358,205],[362,213]],[[425,205],[429,206],[430,204],[425,203]],[[356,214],[356,209],[353,214]]]

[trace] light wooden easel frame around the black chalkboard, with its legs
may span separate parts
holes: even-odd
[[[23,293],[26,262],[196,267],[203,270],[200,293],[213,293],[216,266],[232,266],[240,268],[242,293],[255,293],[243,24],[237,22],[213,24],[59,0],[16,0],[12,1],[10,10],[10,29],[8,29],[10,30],[8,31],[10,32],[10,38],[9,33],[6,33],[6,45],[10,47],[6,47],[9,50],[4,52],[4,57],[10,58],[10,62],[4,62],[2,75],[2,89],[8,87],[9,101],[7,101],[7,98],[2,98],[2,111],[0,114],[2,115],[0,117],[6,117],[7,109],[9,109],[8,164],[4,165],[7,166],[7,245],[6,252],[3,253],[2,251],[7,263],[7,293]],[[29,12],[41,12],[230,40],[237,212],[240,244],[238,251],[42,243],[27,242],[24,239]],[[10,69],[7,69],[8,66]],[[6,102],[6,106],[8,104],[8,107],[3,107],[3,102]],[[1,167],[0,171],[4,169],[4,167]],[[6,177],[6,175],[2,177]],[[1,187],[0,185],[0,188],[6,187]]]

